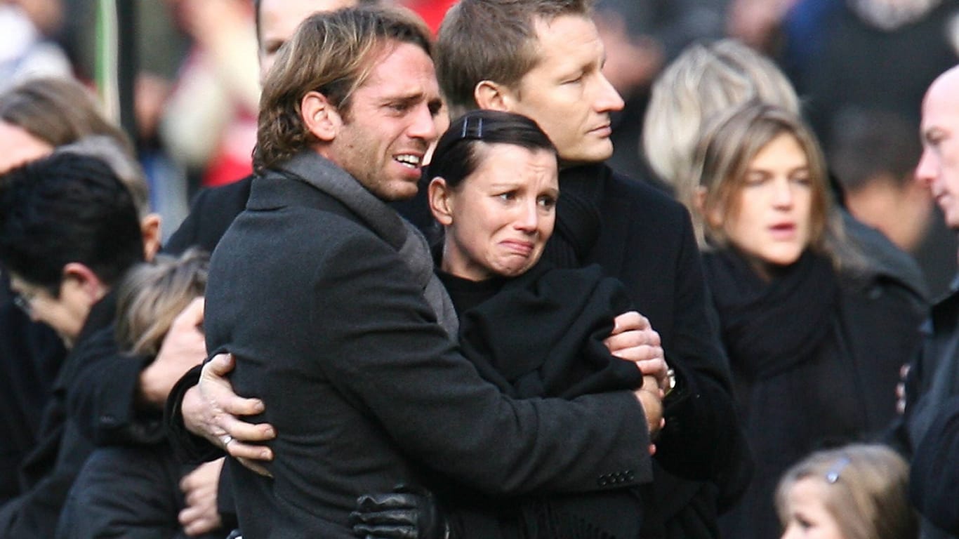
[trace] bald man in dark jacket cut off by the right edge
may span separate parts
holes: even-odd
[[[932,192],[947,226],[959,232],[959,66],[932,82],[922,111],[923,156],[916,179]],[[910,489],[926,519],[924,537],[959,535],[957,320],[959,279],[932,308],[923,354],[909,372],[899,430],[905,451],[913,452]]]

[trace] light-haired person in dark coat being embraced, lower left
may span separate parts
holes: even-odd
[[[119,350],[129,362],[155,358],[170,328],[189,323],[189,317],[180,314],[199,308],[208,269],[209,255],[190,249],[179,257],[159,255],[129,270],[117,286],[115,324]],[[216,476],[221,467],[222,459],[204,465],[200,473]],[[222,539],[226,530],[217,529],[219,519],[184,519],[181,524],[177,518],[188,507],[180,481],[198,476],[195,468],[179,462],[165,439],[97,448],[70,489],[57,537]]]

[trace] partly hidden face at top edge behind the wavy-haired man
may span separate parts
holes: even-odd
[[[296,27],[316,12],[332,12],[357,5],[357,0],[262,0],[260,2],[260,83],[267,80],[269,68],[280,47],[296,32]]]

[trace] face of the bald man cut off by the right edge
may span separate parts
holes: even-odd
[[[959,69],[929,86],[923,100],[922,138],[916,179],[932,191],[948,227],[959,230]]]

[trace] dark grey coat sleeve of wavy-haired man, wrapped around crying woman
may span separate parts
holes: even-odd
[[[439,326],[413,316],[429,307],[396,252],[377,239],[353,238],[324,253],[314,290],[316,346],[331,351],[321,370],[405,454],[494,495],[651,477],[643,409],[631,391],[572,401],[506,397]]]

